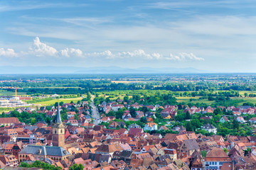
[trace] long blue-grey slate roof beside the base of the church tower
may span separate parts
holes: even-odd
[[[39,151],[41,149],[41,154]],[[63,147],[50,147],[50,146],[38,146],[38,145],[28,145],[21,150],[21,154],[39,154],[39,155],[51,155],[51,156],[58,156],[64,157],[69,155],[68,151],[65,151]]]

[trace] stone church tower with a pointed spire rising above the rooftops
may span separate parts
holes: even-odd
[[[65,147],[65,125],[61,121],[60,108],[58,105],[56,119],[53,120],[53,147]]]

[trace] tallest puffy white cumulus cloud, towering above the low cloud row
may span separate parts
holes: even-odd
[[[29,48],[29,50],[31,54],[34,54],[38,57],[58,55],[58,51],[54,47],[50,47],[41,42],[38,37],[35,38],[33,45]]]

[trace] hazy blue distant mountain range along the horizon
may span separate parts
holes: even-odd
[[[122,67],[0,67],[0,74],[166,74],[166,73],[210,73],[206,70],[188,68],[151,68],[137,69]]]

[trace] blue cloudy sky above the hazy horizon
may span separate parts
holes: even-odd
[[[251,0],[0,1],[1,66],[256,72]]]

